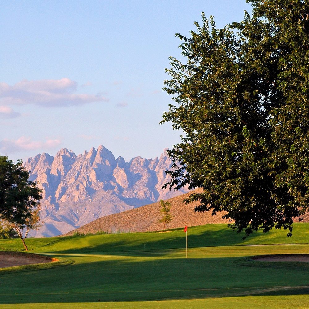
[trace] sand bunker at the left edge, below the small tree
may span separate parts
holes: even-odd
[[[0,251],[0,268],[56,262],[58,259],[33,253]]]

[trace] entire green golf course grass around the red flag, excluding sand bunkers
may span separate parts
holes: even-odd
[[[59,262],[0,269],[0,308],[308,308],[309,263],[255,255],[308,254],[309,224],[242,240],[226,225],[30,238],[31,252]],[[22,251],[19,239],[2,250]]]

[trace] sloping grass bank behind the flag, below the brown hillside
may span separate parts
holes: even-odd
[[[261,231],[242,240],[225,224],[209,224],[188,228],[188,247],[241,246],[258,244],[302,244],[309,242],[309,223],[295,223],[293,236],[284,230]],[[94,253],[120,251],[177,249],[185,246],[183,229],[169,232],[124,233],[79,237],[29,238],[30,251],[58,253]],[[146,250],[144,250],[146,249]],[[20,239],[0,239],[0,250],[24,250]]]

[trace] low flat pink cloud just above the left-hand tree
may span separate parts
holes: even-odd
[[[61,144],[59,139],[47,139],[45,142],[32,141],[30,137],[21,136],[19,139],[2,139],[0,141],[0,151],[6,152],[19,152],[24,150],[37,150],[37,149],[53,149]]]

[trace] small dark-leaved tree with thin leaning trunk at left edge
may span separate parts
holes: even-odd
[[[41,190],[29,180],[29,172],[22,161],[15,164],[6,156],[0,156],[0,219],[16,230],[24,248],[29,230],[39,228]],[[23,231],[26,228],[26,234]]]

